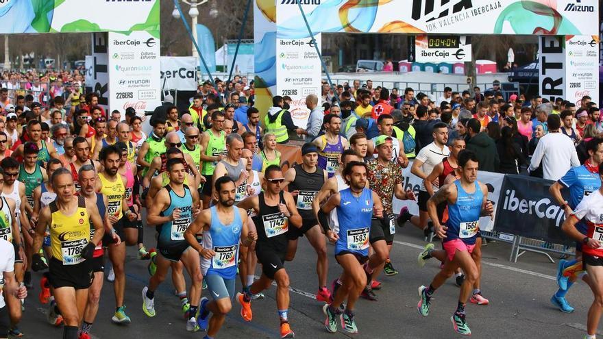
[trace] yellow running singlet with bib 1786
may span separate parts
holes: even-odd
[[[75,265],[86,260],[82,249],[90,240],[90,216],[86,210],[84,197],[77,197],[77,209],[71,216],[59,211],[56,201],[50,203],[51,212],[51,253],[53,258],[64,265]]]

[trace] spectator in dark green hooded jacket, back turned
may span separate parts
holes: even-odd
[[[467,122],[467,134],[469,135],[467,149],[476,153],[480,171],[496,172],[500,162],[496,144],[488,134],[480,132],[481,128],[482,125],[476,118]]]

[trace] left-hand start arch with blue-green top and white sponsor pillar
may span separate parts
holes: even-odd
[[[90,32],[86,87],[109,110],[153,110],[161,104],[159,1],[0,1],[0,34]]]

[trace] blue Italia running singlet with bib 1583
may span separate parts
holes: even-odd
[[[352,190],[339,191],[341,201],[337,206],[339,218],[339,239],[335,242],[335,255],[358,253],[369,255],[369,233],[373,216],[373,192],[362,188],[360,197],[354,197]]]

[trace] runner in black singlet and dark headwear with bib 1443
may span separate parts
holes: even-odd
[[[331,292],[327,288],[329,268],[327,244],[312,211],[312,201],[328,179],[328,172],[317,166],[319,157],[319,150],[314,144],[305,144],[302,146],[302,164],[296,164],[285,173],[283,187],[288,186],[288,191],[295,198],[295,206],[299,211],[299,215],[302,216],[302,228],[291,228],[287,232],[289,244],[286,260],[293,261],[297,251],[297,239],[305,234],[317,255],[316,273],[319,285],[316,300],[328,303]],[[337,167],[339,167],[339,158],[340,156],[335,158],[338,164]]]

